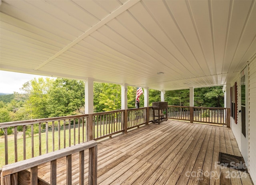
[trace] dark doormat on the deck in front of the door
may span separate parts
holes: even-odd
[[[219,162],[221,166],[229,167],[239,171],[248,173],[244,158],[236,155],[230,155],[227,153],[219,153]]]

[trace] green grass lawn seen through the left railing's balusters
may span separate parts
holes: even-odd
[[[80,143],[82,143],[82,125],[80,125]],[[103,128],[104,127],[104,128]],[[98,128],[98,136],[100,137],[100,131],[103,135],[106,135],[116,131],[116,127],[121,129],[121,123],[117,125],[116,123],[109,128],[108,124],[105,125],[95,125],[95,137],[97,134]],[[69,130],[66,129],[66,147],[69,147]],[[48,153],[53,151],[52,145],[52,132],[48,131]],[[59,149],[59,135],[58,131],[54,131],[54,150]],[[84,141],[86,141],[86,127],[84,126]],[[23,160],[23,132],[18,134],[18,161]],[[75,143],[78,144],[78,128],[75,129]],[[74,145],[74,129],[70,129],[70,144]],[[64,130],[60,131],[60,149],[64,148]],[[41,133],[41,151],[42,155],[46,153],[46,133]],[[39,155],[39,134],[34,135],[34,157]],[[0,168],[5,165],[5,157],[4,157],[4,138],[0,138]],[[26,137],[26,159],[30,159],[32,157],[32,137]],[[14,163],[15,154],[14,154],[14,135],[8,135],[8,163]]]

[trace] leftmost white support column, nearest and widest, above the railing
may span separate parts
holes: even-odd
[[[91,78],[87,78],[85,83],[85,114],[93,113],[93,80]]]

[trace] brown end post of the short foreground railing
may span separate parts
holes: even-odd
[[[97,146],[89,148],[88,185],[97,185],[97,153]]]

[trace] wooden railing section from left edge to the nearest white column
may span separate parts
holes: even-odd
[[[5,164],[85,142],[87,117],[83,114],[0,123],[0,129],[4,129]],[[8,136],[8,127],[14,128],[14,135]],[[8,159],[8,153],[14,155],[13,159]]]

